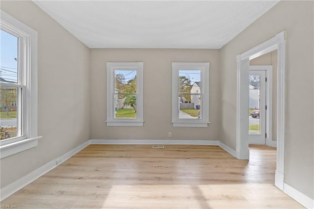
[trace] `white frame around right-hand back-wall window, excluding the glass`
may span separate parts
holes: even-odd
[[[179,119],[179,71],[201,71],[201,118]],[[209,124],[209,62],[172,62],[172,124],[173,127],[208,127]]]

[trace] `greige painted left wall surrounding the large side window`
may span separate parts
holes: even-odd
[[[38,146],[1,159],[1,188],[89,139],[89,49],[31,1],[1,10],[38,32]]]

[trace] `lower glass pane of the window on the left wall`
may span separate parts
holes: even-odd
[[[18,89],[1,86],[0,88],[0,140],[9,139],[18,135],[17,102]],[[15,106],[12,104],[16,104]]]

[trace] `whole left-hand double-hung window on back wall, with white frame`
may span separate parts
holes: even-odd
[[[143,126],[143,62],[107,62],[107,126]]]

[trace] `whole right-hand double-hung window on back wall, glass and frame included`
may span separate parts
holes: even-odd
[[[174,127],[208,127],[209,62],[172,63]]]

